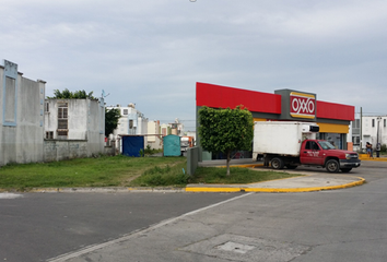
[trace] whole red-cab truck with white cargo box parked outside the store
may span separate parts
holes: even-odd
[[[314,122],[268,121],[254,127],[253,159],[263,158],[273,169],[300,165],[322,166],[329,172],[349,172],[361,162],[355,152],[337,150],[328,141],[316,140]]]

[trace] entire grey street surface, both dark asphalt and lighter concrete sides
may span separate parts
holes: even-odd
[[[324,192],[0,199],[0,260],[45,261],[70,252],[57,261],[386,261],[387,163],[362,164],[351,175],[366,184]],[[232,201],[195,212],[225,200]]]

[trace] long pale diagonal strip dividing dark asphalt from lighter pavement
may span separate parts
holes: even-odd
[[[190,216],[190,215],[200,213],[202,211],[210,210],[212,207],[215,207],[215,206],[219,206],[219,205],[222,205],[222,204],[225,204],[225,203],[228,203],[228,202],[245,198],[245,196],[250,195],[250,194],[253,194],[253,193],[242,194],[242,195],[238,195],[238,196],[235,196],[235,198],[219,202],[216,204],[212,204],[212,205],[209,205],[209,206],[196,210],[196,211],[191,211],[191,212],[188,212],[188,213],[183,214],[180,216],[177,216],[177,217],[174,217],[174,218],[169,218],[169,219],[160,222],[157,224],[151,225],[151,226],[149,226],[146,228],[141,228],[141,229],[134,230],[134,231],[132,231],[132,233],[130,233],[130,234],[128,234],[128,235],[126,235],[124,237],[120,237],[120,238],[117,238],[117,239],[114,239],[114,240],[110,240],[110,241],[107,241],[107,242],[104,242],[104,243],[92,245],[92,246],[89,246],[89,247],[86,247],[84,249],[78,250],[75,252],[61,254],[61,255],[59,255],[57,258],[52,258],[52,259],[47,260],[47,262],[64,262],[64,261],[70,260],[70,259],[78,258],[78,257],[80,257],[82,254],[86,254],[86,253],[93,252],[95,250],[98,250],[98,249],[102,249],[102,248],[105,248],[105,247],[108,247],[108,246],[112,246],[112,245],[116,245],[116,243],[119,243],[119,242],[127,241],[127,240],[129,240],[131,238],[136,238],[137,236],[142,235],[144,233],[152,231],[152,230],[157,229],[160,227],[163,227],[163,226],[165,226],[167,224],[174,223],[174,222],[176,222],[178,219],[181,219],[181,218],[184,218],[186,216]]]

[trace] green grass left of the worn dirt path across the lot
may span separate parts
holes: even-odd
[[[0,191],[59,187],[127,187],[149,167],[187,165],[183,157],[99,156],[1,167]],[[181,170],[181,169],[180,169]]]

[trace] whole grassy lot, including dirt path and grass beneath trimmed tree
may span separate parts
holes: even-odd
[[[77,187],[185,187],[187,183],[249,183],[294,175],[232,168],[200,167],[195,176],[185,174],[185,157],[102,156],[52,163],[0,167],[0,189]]]

